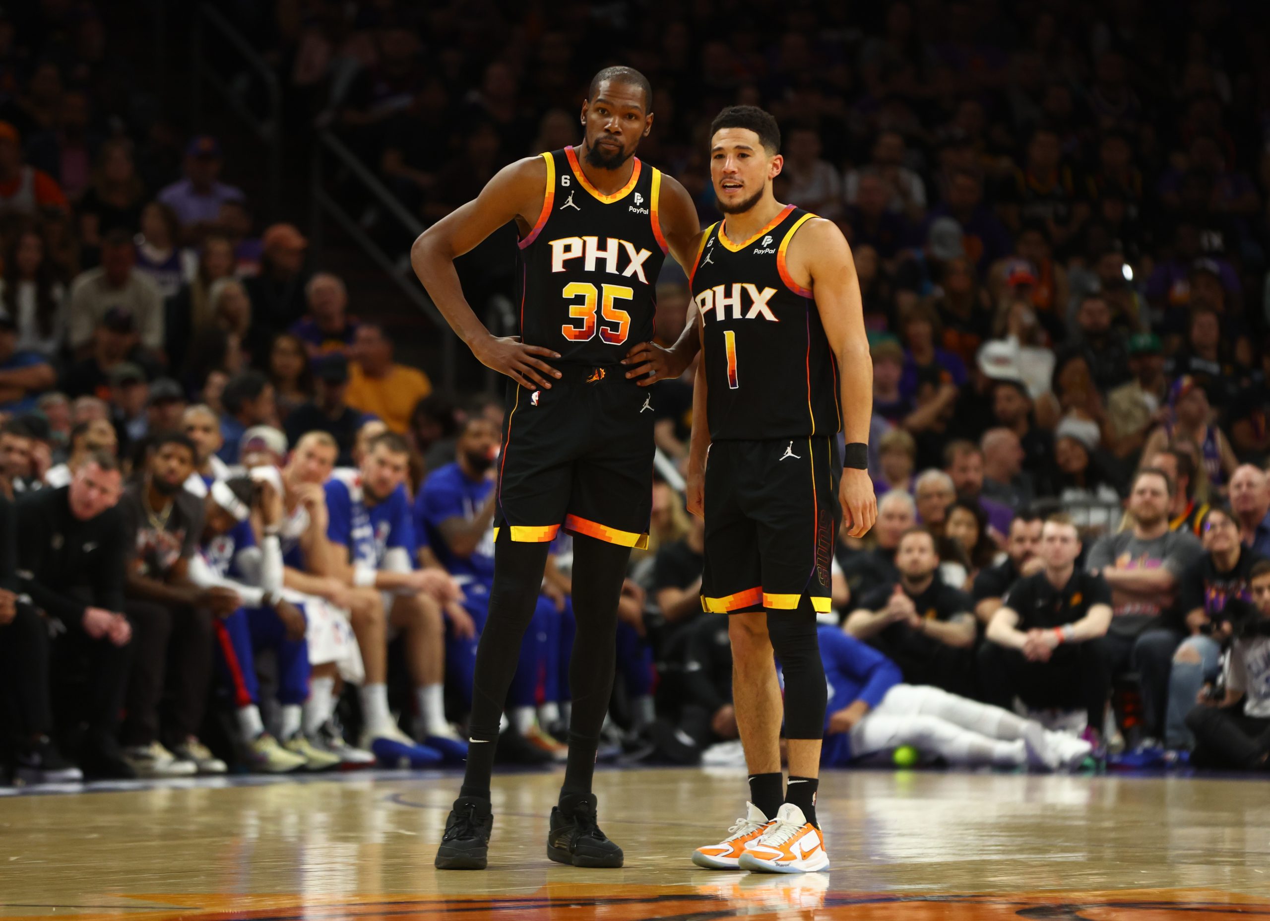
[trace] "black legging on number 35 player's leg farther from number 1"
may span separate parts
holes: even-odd
[[[472,713],[467,734],[479,742],[467,746],[467,770],[460,794],[485,799],[489,799],[498,724],[507,703],[507,689],[516,675],[525,630],[533,620],[550,549],[550,544],[514,542],[511,534],[505,530],[504,534],[494,544],[494,586],[489,593],[489,616],[476,645],[472,676]]]

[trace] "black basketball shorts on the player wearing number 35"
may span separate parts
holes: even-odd
[[[644,549],[653,513],[653,400],[621,365],[555,363],[550,390],[507,387],[494,540],[572,534]],[[505,530],[505,535],[504,535]]]

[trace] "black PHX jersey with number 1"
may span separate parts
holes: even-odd
[[[812,292],[794,283],[785,253],[814,217],[792,205],[744,243],[725,224],[706,230],[690,276],[701,311],[710,437],[833,434],[838,366]]]

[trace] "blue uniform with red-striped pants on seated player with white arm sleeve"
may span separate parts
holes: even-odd
[[[199,554],[217,575],[248,584],[237,567],[237,558],[243,550],[255,545],[250,522],[241,521],[227,534],[204,542]],[[272,608],[240,607],[227,617],[216,619],[215,629],[220,650],[217,658],[235,706],[260,703],[260,686],[255,675],[258,649],[272,649],[277,658],[278,703],[305,703],[312,671],[309,664],[309,644],[302,638],[287,639],[287,630]]]

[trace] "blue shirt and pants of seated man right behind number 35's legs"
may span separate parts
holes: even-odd
[[[457,462],[434,470],[414,503],[415,530],[424,535],[437,559],[458,579],[464,589],[464,608],[476,624],[476,636],[461,639],[452,633],[446,638],[446,672],[471,706],[472,677],[476,671],[476,645],[489,617],[489,593],[494,586],[494,531],[488,528],[470,556],[451,553],[439,527],[447,518],[471,518],[485,504],[494,483],[485,478],[471,480]],[[572,607],[565,605],[572,620]],[[508,691],[511,706],[535,706],[559,700],[560,696],[560,630],[563,617],[555,602],[538,596],[533,620],[525,631],[521,658]]]

